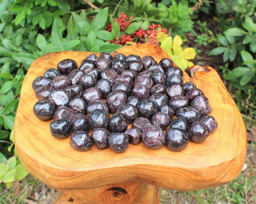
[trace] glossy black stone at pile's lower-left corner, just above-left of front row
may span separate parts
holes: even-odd
[[[70,135],[70,123],[67,120],[55,120],[50,123],[51,135],[57,139],[63,139]]]

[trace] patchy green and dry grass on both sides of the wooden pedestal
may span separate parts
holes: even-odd
[[[161,204],[255,204],[256,203],[256,143],[247,144],[247,168],[226,185],[179,192],[161,188]],[[32,175],[15,182],[11,189],[0,184],[1,204],[52,204],[56,191]]]

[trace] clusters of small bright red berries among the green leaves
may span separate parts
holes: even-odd
[[[124,33],[126,29],[131,25],[131,20],[133,20],[133,17],[131,16],[129,18],[129,21],[127,20],[128,17],[123,12],[121,13],[118,19],[114,20],[115,22],[118,22],[122,32]],[[112,31],[112,23],[108,24],[106,30],[109,32]],[[140,45],[142,43],[158,44],[157,35],[159,32],[163,32],[164,34],[167,33],[166,28],[162,29],[161,25],[152,23],[148,26],[148,30],[144,31],[142,28],[139,28],[133,34],[122,34],[119,36],[119,38],[111,40],[110,43],[119,45],[125,45],[127,42],[134,42],[137,45]]]

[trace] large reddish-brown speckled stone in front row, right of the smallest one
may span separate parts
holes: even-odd
[[[165,143],[165,134],[160,127],[150,125],[142,132],[141,139],[146,147],[159,149]]]

